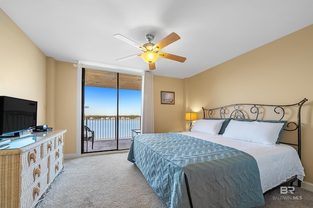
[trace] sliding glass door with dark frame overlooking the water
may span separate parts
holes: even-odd
[[[140,129],[142,76],[83,69],[82,153],[129,149]]]

